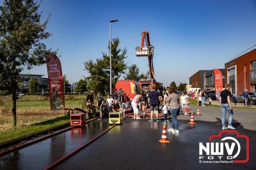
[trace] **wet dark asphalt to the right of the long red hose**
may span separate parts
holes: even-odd
[[[255,169],[255,131],[237,127],[239,133],[250,137],[251,158],[246,164],[200,164],[199,143],[218,134],[219,125],[197,121],[191,127],[188,120],[179,123],[180,134],[169,132],[170,143],[159,143],[162,123],[125,120],[56,169]],[[245,141],[240,144],[243,148]]]

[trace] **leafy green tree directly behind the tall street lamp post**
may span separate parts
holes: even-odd
[[[118,47],[119,43],[118,38],[113,38],[111,41],[112,87],[115,87],[116,81],[125,73],[127,68],[127,63],[124,61],[127,58],[127,49],[120,49]],[[88,90],[100,93],[109,92],[109,72],[104,71],[104,68],[109,68],[109,55],[104,52],[102,53],[102,58],[96,59],[95,62],[92,59],[84,62],[84,70],[89,73],[89,76],[86,77]]]

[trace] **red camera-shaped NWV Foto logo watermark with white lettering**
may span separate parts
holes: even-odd
[[[209,142],[199,143],[199,163],[230,164],[249,160],[249,137],[236,130],[221,130]]]

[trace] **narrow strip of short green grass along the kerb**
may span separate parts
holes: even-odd
[[[59,125],[63,125],[65,123],[69,123],[69,118],[65,116],[61,116],[58,118],[54,118],[52,120],[42,121],[40,123],[35,123],[33,125],[23,126],[15,129],[8,129],[4,131],[0,131],[0,143],[4,143],[6,141],[11,141],[12,139],[17,139],[24,135],[33,134],[35,132],[39,132],[45,130],[47,128],[56,127]]]

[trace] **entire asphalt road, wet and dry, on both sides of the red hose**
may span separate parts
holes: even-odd
[[[191,112],[196,112],[196,107],[191,107]],[[159,143],[162,122],[126,119],[55,169],[255,169],[256,112],[234,111],[234,127],[250,139],[250,160],[246,164],[199,163],[199,143],[209,142],[209,137],[221,130],[219,108],[200,107],[200,112],[202,116],[195,116],[194,126],[188,124],[188,116],[178,116],[180,134],[168,132],[167,144]],[[97,120],[74,128],[1,157],[0,169],[44,169],[108,127],[108,120]],[[246,141],[239,143],[238,158],[243,159]]]

